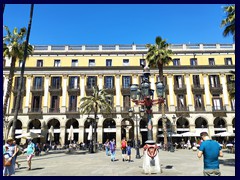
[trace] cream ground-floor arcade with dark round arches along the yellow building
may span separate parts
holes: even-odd
[[[66,115],[44,115],[41,118],[30,119],[29,116],[19,116],[17,120],[16,135],[26,132],[35,132],[41,134],[43,138],[38,141],[42,143],[50,143],[48,134],[50,127],[53,126],[54,142],[57,144],[69,144],[68,134],[70,126],[73,126],[73,141],[80,143],[88,143],[88,133],[90,131],[91,121],[94,116],[79,116],[78,118],[67,118]],[[8,117],[9,123],[7,129],[12,126],[12,118]],[[117,115],[114,118],[104,118],[98,115],[96,127],[97,141],[104,143],[107,139],[116,139],[117,147],[123,137],[127,140],[136,140],[143,144],[147,140],[147,119],[141,118],[136,114],[134,118],[122,117]],[[153,139],[156,142],[163,141],[162,115],[154,114],[153,122]],[[195,133],[199,136],[200,132],[207,131],[210,136],[219,132],[235,132],[235,113],[227,113],[224,117],[215,117],[211,113],[189,114],[189,116],[177,116],[177,114],[166,114],[167,134],[179,141],[182,139],[181,134],[184,132]],[[94,127],[91,128],[94,131]],[[4,130],[6,132],[6,130]],[[6,133],[5,133],[6,134]],[[25,143],[22,139],[21,143]]]

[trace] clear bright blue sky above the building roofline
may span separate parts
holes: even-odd
[[[35,4],[32,45],[233,43],[225,4]],[[27,27],[30,5],[6,4],[3,25]]]

